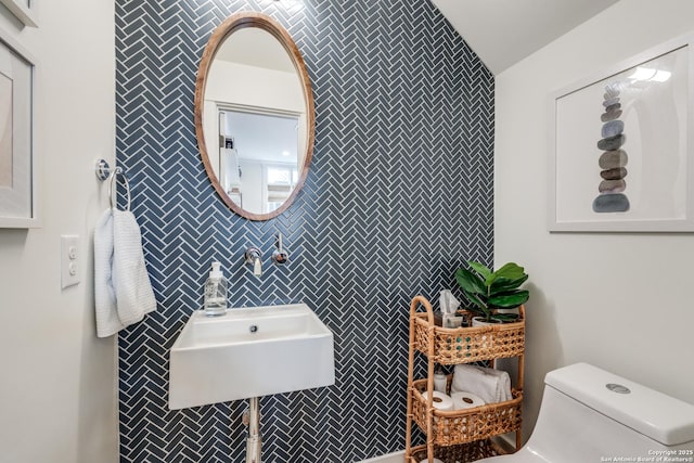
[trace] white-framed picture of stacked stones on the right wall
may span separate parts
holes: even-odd
[[[692,38],[550,97],[550,231],[694,231]]]

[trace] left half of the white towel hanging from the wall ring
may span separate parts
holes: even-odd
[[[106,209],[94,229],[94,303],[97,336],[111,336],[125,326],[118,319],[113,287],[113,214]]]

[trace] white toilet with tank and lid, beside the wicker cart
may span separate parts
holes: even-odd
[[[694,406],[587,363],[544,383],[528,443],[484,462],[694,462]]]

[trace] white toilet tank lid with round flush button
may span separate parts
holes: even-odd
[[[665,446],[694,440],[694,406],[596,366],[576,363],[554,370],[544,383]],[[609,384],[630,391],[611,390]]]

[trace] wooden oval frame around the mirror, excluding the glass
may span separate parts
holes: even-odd
[[[304,102],[306,104],[306,154],[304,156],[303,165],[297,166],[298,180],[296,187],[280,207],[267,214],[255,214],[249,210],[245,210],[229,197],[227,192],[221,187],[217,173],[211,166],[203,130],[205,88],[207,85],[207,76],[215,60],[215,55],[227,38],[229,38],[234,31],[246,27],[257,27],[264,29],[272,35],[280,42],[280,44],[282,44],[284,50],[287,52],[287,55],[292,60],[292,63],[294,64],[294,68],[296,70],[296,74],[300,81],[301,90],[304,92]],[[205,166],[207,177],[211,181],[213,187],[217,191],[219,197],[231,210],[249,220],[268,220],[282,214],[292,205],[292,203],[294,203],[294,200],[304,187],[304,182],[306,181],[306,177],[308,176],[309,167],[311,164],[311,158],[313,157],[314,132],[316,118],[313,112],[313,93],[311,90],[311,82],[308,77],[308,72],[306,70],[304,57],[301,56],[301,53],[296,47],[296,43],[294,43],[294,40],[292,39],[290,34],[284,29],[284,27],[282,27],[281,24],[261,13],[243,12],[229,16],[213,31],[207,46],[205,46],[203,57],[200,63],[200,68],[197,70],[197,79],[195,81],[195,136],[197,138],[197,146],[200,149],[200,154],[203,159],[203,165]]]

